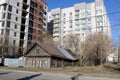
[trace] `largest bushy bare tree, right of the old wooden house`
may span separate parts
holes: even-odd
[[[89,35],[81,43],[81,65],[100,65],[112,51],[111,38],[102,32]]]

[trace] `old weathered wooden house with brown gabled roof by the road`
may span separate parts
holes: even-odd
[[[65,67],[73,66],[75,59],[70,59],[61,53],[54,46],[49,46],[44,43],[34,44],[26,52],[25,67],[38,67],[38,68],[50,68],[50,67]]]

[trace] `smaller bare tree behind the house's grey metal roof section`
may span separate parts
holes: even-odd
[[[70,48],[75,54],[79,53],[80,38],[75,34],[68,34],[66,37],[66,47]]]

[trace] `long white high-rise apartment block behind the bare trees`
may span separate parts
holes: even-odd
[[[68,35],[78,35],[80,41],[91,33],[103,31],[111,36],[111,28],[103,0],[78,3],[68,8],[48,12],[48,31],[57,47],[65,47]]]

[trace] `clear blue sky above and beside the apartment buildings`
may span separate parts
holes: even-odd
[[[76,3],[94,2],[95,0],[45,0],[48,3],[48,11],[54,8],[71,7]],[[115,46],[120,45],[120,0],[104,0],[104,4],[110,19],[112,40]]]

